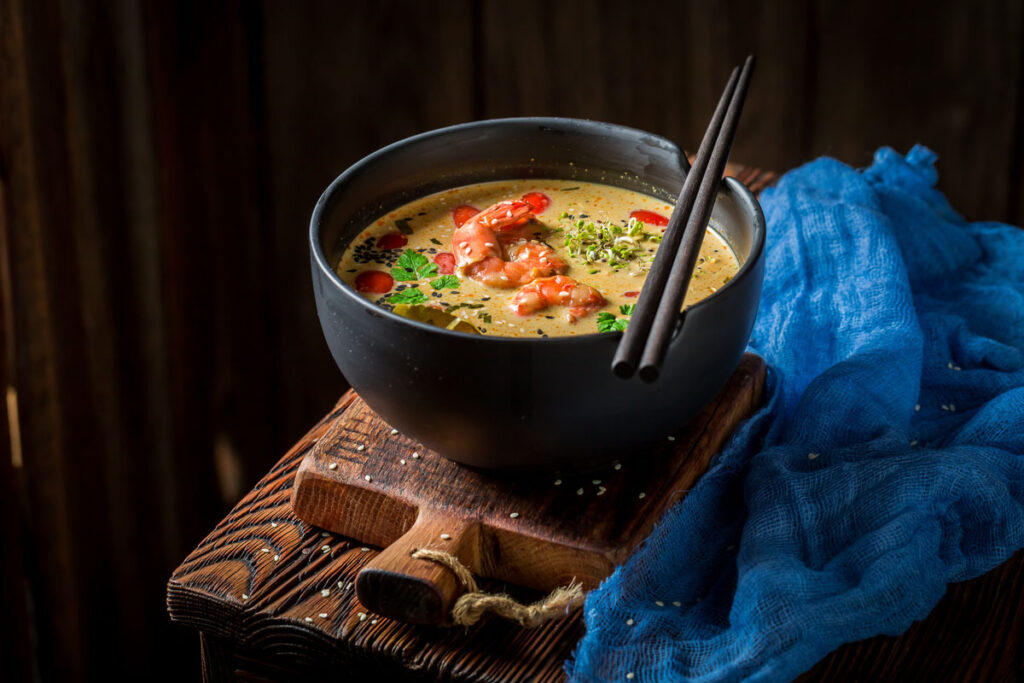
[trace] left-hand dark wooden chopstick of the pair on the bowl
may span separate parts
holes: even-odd
[[[679,248],[679,240],[682,238],[686,219],[693,208],[693,201],[696,199],[700,179],[708,168],[715,140],[722,128],[726,109],[736,88],[738,74],[738,68],[732,70],[729,82],[726,83],[725,90],[718,100],[715,114],[712,115],[711,123],[708,124],[708,130],[705,131],[703,139],[700,141],[700,147],[693,159],[693,166],[686,173],[683,187],[679,190],[676,208],[669,217],[665,236],[662,238],[662,244],[654,255],[654,262],[650,266],[644,286],[640,290],[640,298],[637,299],[637,305],[630,316],[630,324],[626,328],[626,332],[623,333],[618,348],[615,349],[615,357],[611,360],[611,372],[624,379],[632,377],[640,362],[640,355],[647,342],[647,334],[654,322],[654,314],[657,312],[657,301],[665,290],[666,282],[669,280],[672,262],[676,250]]]

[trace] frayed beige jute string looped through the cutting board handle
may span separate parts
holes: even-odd
[[[479,622],[481,616],[490,612],[532,629],[548,620],[566,616],[571,608],[583,603],[583,585],[575,579],[569,582],[568,586],[556,588],[548,597],[524,605],[503,593],[480,591],[472,572],[451,553],[421,548],[413,552],[413,557],[444,565],[466,587],[466,592],[456,600],[455,607],[452,608],[452,621],[460,626],[472,626]]]

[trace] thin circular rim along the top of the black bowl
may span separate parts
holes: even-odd
[[[572,126],[575,128],[590,129],[592,131],[616,131],[616,132],[627,132],[639,135],[645,135],[649,138],[656,140],[658,143],[665,144],[668,147],[676,150],[676,152],[683,157],[684,162],[686,161],[683,152],[679,146],[672,140],[666,137],[651,133],[649,131],[641,130],[639,128],[633,128],[630,126],[624,126],[621,124],[606,123],[603,121],[593,121],[591,119],[572,119],[566,117],[511,117],[503,119],[481,119],[479,121],[471,121],[468,123],[460,123],[452,126],[444,126],[442,128],[434,128],[432,130],[424,131],[422,133],[417,133],[416,135],[411,135],[409,137],[395,140],[390,144],[387,144],[369,155],[358,160],[347,169],[342,171],[338,177],[336,177],[327,189],[321,195],[319,199],[316,201],[316,206],[313,208],[312,215],[309,219],[309,248],[310,253],[323,274],[326,274],[331,283],[342,292],[342,295],[347,297],[350,301],[356,303],[362,307],[367,312],[374,315],[381,315],[387,319],[394,321],[398,324],[410,325],[414,328],[421,330],[422,332],[436,334],[441,337],[454,337],[459,340],[473,340],[480,343],[513,343],[513,344],[529,344],[529,343],[544,343],[546,345],[558,344],[558,343],[579,343],[584,340],[591,339],[618,339],[622,337],[623,333],[620,331],[615,332],[592,332],[585,335],[568,335],[559,337],[505,337],[500,335],[473,335],[467,332],[457,332],[455,330],[447,330],[445,328],[439,328],[434,325],[429,325],[427,323],[420,323],[419,321],[414,321],[412,318],[406,317],[403,315],[398,315],[393,313],[386,308],[376,305],[374,302],[365,299],[359,296],[358,292],[349,287],[341,280],[337,272],[335,272],[334,267],[328,263],[327,255],[324,253],[324,248],[321,240],[321,228],[324,224],[325,219],[329,214],[329,204],[331,203],[331,198],[337,191],[339,185],[345,183],[351,176],[356,173],[361,172],[364,168],[374,164],[381,157],[387,156],[394,152],[395,150],[401,148],[409,144],[414,144],[424,139],[429,139],[431,137],[450,134],[458,131],[474,130],[476,128],[483,128],[487,126],[494,126],[496,124],[511,124],[511,125],[522,125],[527,127],[532,126]],[[685,164],[685,170],[689,172],[689,165]],[[504,179],[516,179],[516,178],[494,178],[495,180]],[[757,262],[761,259],[762,252],[765,248],[766,240],[766,223],[764,217],[764,211],[761,208],[760,202],[754,197],[750,188],[743,183],[739,182],[732,176],[727,176],[722,180],[722,186],[719,191],[723,188],[728,187],[730,194],[732,194],[735,199],[743,205],[743,209],[746,213],[750,213],[754,217],[754,242],[751,245],[750,254],[746,260],[743,261],[742,265],[736,271],[736,274],[725,284],[724,287],[720,288],[717,292],[712,293],[710,296],[705,297],[700,301],[687,306],[680,311],[679,315],[682,316],[690,310],[697,310],[703,308],[708,305],[712,305],[714,301],[721,298],[723,292],[727,292],[730,288],[734,289],[734,285],[738,286],[738,283],[749,276],[750,272],[754,269]]]

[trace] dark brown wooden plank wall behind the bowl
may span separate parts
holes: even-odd
[[[306,225],[340,171],[474,119],[625,123],[785,170],[929,144],[1024,216],[1020,2],[0,0],[4,680],[198,676],[171,569],[345,387]]]

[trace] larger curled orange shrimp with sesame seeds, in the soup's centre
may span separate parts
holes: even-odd
[[[456,271],[500,288],[565,272],[568,266],[553,249],[522,239],[518,228],[532,219],[534,208],[527,202],[505,201],[467,220],[452,233]]]

